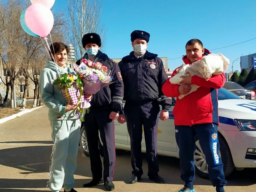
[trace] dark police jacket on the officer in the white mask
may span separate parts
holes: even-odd
[[[118,63],[124,84],[124,100],[145,104],[161,98],[162,109],[169,109],[171,98],[164,96],[162,85],[167,79],[163,62],[157,54],[146,51],[139,61],[132,51]]]

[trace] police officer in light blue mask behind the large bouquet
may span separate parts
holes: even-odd
[[[123,80],[120,76],[118,65],[102,53],[100,36],[96,33],[87,33],[82,39],[86,54],[83,56],[94,62],[101,62],[108,68],[114,83],[101,88],[92,96],[89,113],[84,116],[84,126],[87,135],[87,142],[90,153],[92,181],[83,187],[92,187],[101,182],[102,163],[99,151],[99,132],[103,143],[104,171],[103,179],[107,190],[114,190],[113,176],[116,161],[114,119],[117,119],[120,111],[123,110]],[[76,62],[80,64],[80,60]]]

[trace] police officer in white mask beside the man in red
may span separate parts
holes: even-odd
[[[161,120],[169,118],[171,98],[162,93],[162,85],[167,79],[162,60],[157,54],[146,51],[149,33],[135,30],[131,33],[133,50],[118,63],[124,84],[124,115],[120,114],[118,122],[127,123],[131,141],[132,177],[130,183],[141,179],[142,171],[142,125],[145,135],[148,177],[164,183],[158,175],[157,129],[161,98]]]

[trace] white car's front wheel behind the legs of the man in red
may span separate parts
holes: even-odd
[[[229,146],[226,140],[223,138],[222,135],[218,135],[218,139],[220,143],[219,155],[223,163],[224,175],[225,177],[227,177],[233,172],[233,170],[235,169],[235,166],[234,166],[231,152],[229,150]],[[199,177],[209,179],[208,165],[205,160],[205,155],[200,146],[200,142],[196,141],[195,144],[196,144],[196,150],[194,154],[195,172]]]

